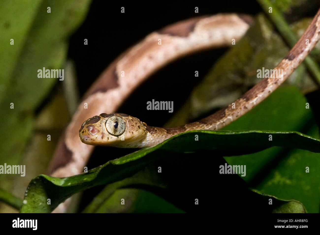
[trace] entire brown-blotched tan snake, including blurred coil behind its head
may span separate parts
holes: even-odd
[[[147,35],[120,54],[84,94],[58,142],[47,174],[66,177],[82,173],[95,145],[142,148],[188,130],[218,130],[228,125],[271,94],[308,55],[319,40],[319,15],[320,10],[299,41],[275,67],[283,69],[281,79],[270,74],[218,112],[172,128],[148,126],[136,117],[115,112],[131,92],[158,69],[197,51],[231,46],[233,40],[239,40],[245,34],[253,19],[236,13],[200,16]],[[125,76],[122,76],[123,72]],[[64,212],[65,208],[62,203],[57,209]]]

